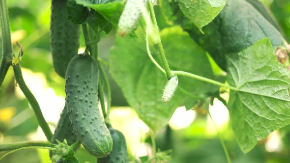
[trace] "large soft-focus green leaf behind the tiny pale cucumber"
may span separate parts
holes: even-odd
[[[110,54],[110,73],[130,106],[153,131],[157,131],[168,123],[176,107],[187,97],[177,88],[172,100],[163,103],[161,96],[167,82],[166,76],[147,56],[142,33],[138,36],[138,39],[116,38]],[[205,52],[180,27],[165,28],[161,31],[161,37],[173,70],[215,78]],[[154,58],[160,63],[159,55],[154,52]],[[185,77],[179,77],[179,85],[198,95],[218,90],[211,84]]]

